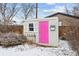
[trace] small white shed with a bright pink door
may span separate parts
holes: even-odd
[[[24,35],[28,40],[45,46],[58,46],[58,18],[31,19],[24,22]]]

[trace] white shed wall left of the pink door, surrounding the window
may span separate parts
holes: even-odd
[[[34,25],[34,31],[29,31],[29,24],[33,23]],[[24,35],[27,36],[27,39],[32,40],[33,42],[36,42],[37,38],[37,32],[38,32],[38,22],[33,21],[33,22],[25,22],[24,23]],[[34,37],[35,35],[35,37]]]

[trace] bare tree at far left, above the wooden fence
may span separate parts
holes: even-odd
[[[5,25],[11,24],[20,9],[16,3],[0,3],[0,17]]]

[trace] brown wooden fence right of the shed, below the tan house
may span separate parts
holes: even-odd
[[[60,26],[59,27],[59,36],[67,36],[69,33],[74,33],[79,36],[79,27],[75,26]]]

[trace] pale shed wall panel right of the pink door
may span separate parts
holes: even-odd
[[[50,26],[55,26],[55,31],[50,30]],[[49,45],[58,46],[58,19],[49,21]]]

